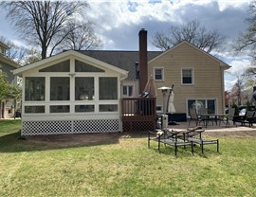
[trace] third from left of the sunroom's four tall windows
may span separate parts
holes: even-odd
[[[75,99],[93,100],[94,99],[94,78],[75,79]]]

